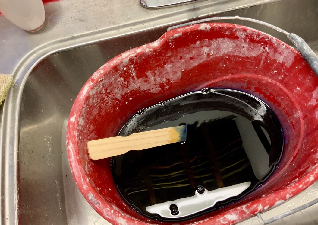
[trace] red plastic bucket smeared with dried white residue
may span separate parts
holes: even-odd
[[[86,82],[67,126],[76,184],[112,224],[162,224],[122,200],[109,158],[92,161],[86,142],[115,136],[139,109],[203,88],[251,93],[276,113],[285,133],[278,168],[263,186],[227,207],[179,224],[235,224],[282,203],[318,178],[318,77],[294,48],[240,25],[207,23],[165,33],[118,55]]]

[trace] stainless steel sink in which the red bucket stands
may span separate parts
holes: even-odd
[[[46,5],[46,26],[38,34],[20,33],[20,38],[25,36],[24,44],[31,47],[9,53],[15,59],[13,66],[0,62],[4,70],[13,71],[16,83],[2,107],[1,224],[108,224],[88,205],[73,180],[66,156],[68,115],[80,88],[94,71],[112,57],[158,39],[169,26],[207,16],[255,18],[296,33],[318,53],[316,0],[198,1],[159,10],[144,9],[138,1],[131,6],[128,1],[125,6],[103,9],[109,14],[103,15],[102,21],[90,21],[92,17],[97,19],[92,14],[103,7],[102,2],[90,5],[89,13],[82,6],[74,9],[65,2]],[[66,7],[73,7],[73,16],[78,11],[86,17],[68,24],[71,16],[61,20],[58,17],[63,17]],[[81,21],[84,19],[85,24]],[[55,30],[56,37],[41,41],[41,37],[48,39],[50,29],[63,26],[62,22],[76,29],[71,27],[73,33],[66,32],[68,36]],[[269,28],[244,21],[227,22],[251,26],[291,44]],[[87,29],[88,24],[96,27]],[[31,40],[38,40],[40,45],[30,44]],[[303,202],[318,197],[316,183],[300,197]],[[314,213],[317,209],[311,207],[309,213],[303,212],[306,218],[300,213],[275,224],[318,224],[318,214]],[[255,218],[242,222],[258,223]]]

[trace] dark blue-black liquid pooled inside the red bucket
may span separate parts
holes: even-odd
[[[150,106],[128,120],[120,135],[180,124],[187,124],[184,143],[112,158],[118,191],[151,219],[184,221],[237,201],[265,182],[282,155],[283,131],[272,109],[228,89],[190,92]],[[233,194],[240,184],[248,186]],[[202,197],[226,188],[215,202]],[[194,196],[209,207],[201,208]]]

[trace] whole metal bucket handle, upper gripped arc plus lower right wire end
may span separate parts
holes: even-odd
[[[306,62],[308,63],[308,65],[311,67],[311,69],[315,72],[315,74],[318,76],[318,58],[315,54],[315,52],[308,46],[308,44],[306,43],[306,41],[304,39],[302,39],[301,37],[299,37],[298,35],[294,34],[294,33],[288,33],[287,31],[271,25],[269,23],[257,20],[257,19],[252,19],[252,18],[246,18],[246,17],[239,17],[239,16],[233,16],[233,17],[211,17],[211,18],[204,18],[204,19],[200,19],[200,20],[196,20],[196,21],[192,21],[189,23],[184,23],[181,25],[176,25],[176,26],[171,26],[167,29],[167,31],[176,29],[176,28],[180,28],[183,26],[189,26],[189,25],[194,25],[194,24],[199,24],[199,23],[205,23],[208,21],[212,21],[212,20],[229,20],[229,19],[238,19],[238,20],[244,20],[244,21],[249,21],[249,22],[253,22],[253,23],[257,23],[260,25],[264,25],[267,26],[269,28],[272,28],[273,30],[276,30],[280,33],[283,33],[287,36],[287,38],[295,45],[295,47],[297,48],[298,52],[301,54],[302,57],[304,57],[304,59],[306,60]],[[257,213],[257,217],[259,218],[259,221],[263,224],[270,224],[272,222],[278,221],[284,217],[287,217],[291,214],[297,213],[303,209],[306,209],[310,206],[315,205],[316,203],[318,203],[318,198],[316,198],[315,200],[312,200],[302,206],[296,207],[294,209],[291,209],[285,213],[279,214],[277,216],[274,216],[270,219],[264,220],[261,216],[260,213]]]

